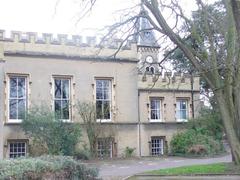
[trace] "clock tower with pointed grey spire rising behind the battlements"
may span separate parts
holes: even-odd
[[[140,14],[147,15],[148,12],[142,7]],[[139,58],[139,71],[142,73],[159,73],[158,53],[159,44],[152,30],[150,22],[144,18],[139,18],[137,22],[137,50]]]

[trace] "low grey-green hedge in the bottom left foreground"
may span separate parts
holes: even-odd
[[[41,156],[0,162],[0,179],[96,179],[98,171],[67,156]]]

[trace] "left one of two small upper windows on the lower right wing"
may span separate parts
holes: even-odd
[[[150,99],[150,120],[161,121],[161,99]]]

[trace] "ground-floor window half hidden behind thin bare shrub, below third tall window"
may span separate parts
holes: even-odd
[[[113,140],[112,138],[99,138],[97,142],[97,152],[100,158],[112,158]]]

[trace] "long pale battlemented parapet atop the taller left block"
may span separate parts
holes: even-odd
[[[84,41],[85,40],[85,41]],[[6,37],[5,31],[0,30],[0,54],[62,56],[76,59],[118,59],[137,61],[137,45],[127,41],[126,45],[114,57],[122,40],[113,39],[111,42],[97,43],[96,37],[82,37],[66,34],[53,34],[35,32],[11,31],[11,36]]]

